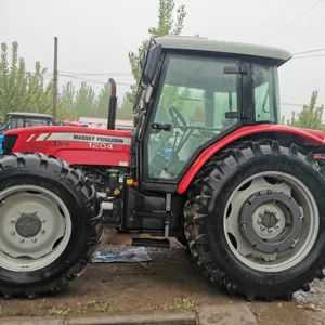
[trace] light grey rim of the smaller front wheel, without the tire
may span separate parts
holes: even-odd
[[[53,192],[22,185],[0,193],[0,268],[43,269],[63,253],[70,235],[70,213]]]

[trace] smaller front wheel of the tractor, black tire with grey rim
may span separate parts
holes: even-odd
[[[61,291],[86,270],[102,234],[94,187],[43,154],[0,157],[0,295]]]

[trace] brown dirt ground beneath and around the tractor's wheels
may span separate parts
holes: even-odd
[[[115,243],[118,246],[112,245]],[[106,233],[99,249],[129,247],[129,235]],[[0,300],[0,316],[143,313],[191,310],[203,303],[244,302],[259,324],[325,324],[325,282],[315,283],[308,294],[297,292],[291,302],[248,303],[244,298],[211,287],[177,242],[170,250],[147,248],[147,251],[152,258],[150,263],[90,264],[83,275],[55,297]]]

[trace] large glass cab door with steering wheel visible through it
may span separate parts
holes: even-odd
[[[143,142],[148,185],[177,184],[205,147],[238,127],[242,80],[225,68],[239,65],[223,57],[167,56]]]

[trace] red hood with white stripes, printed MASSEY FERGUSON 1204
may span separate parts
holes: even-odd
[[[18,134],[12,150],[40,152],[73,165],[130,165],[131,132],[83,127],[51,126],[9,130]]]

